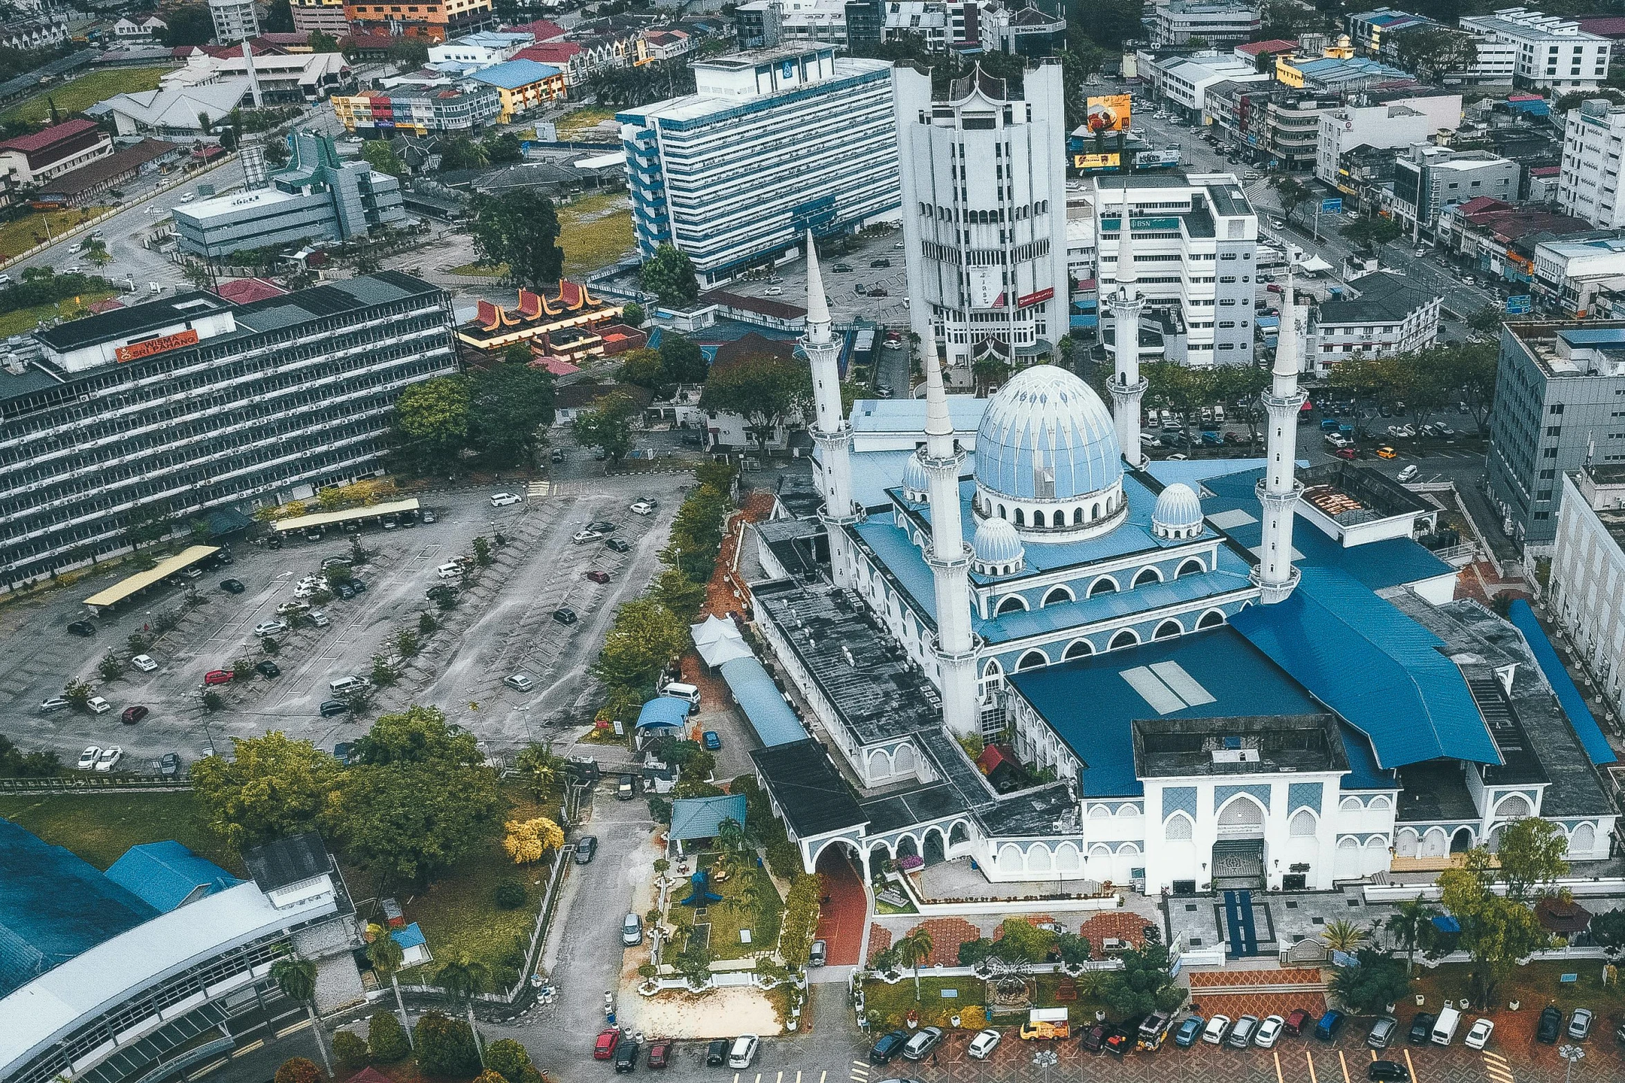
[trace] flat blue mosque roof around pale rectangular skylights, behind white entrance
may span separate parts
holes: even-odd
[[[1207,690],[1211,703],[1162,713],[1123,677],[1124,671],[1175,661]],[[1051,729],[1084,762],[1086,797],[1138,797],[1131,723],[1138,718],[1245,718],[1320,714],[1324,708],[1263,651],[1228,627],[1009,675]]]

